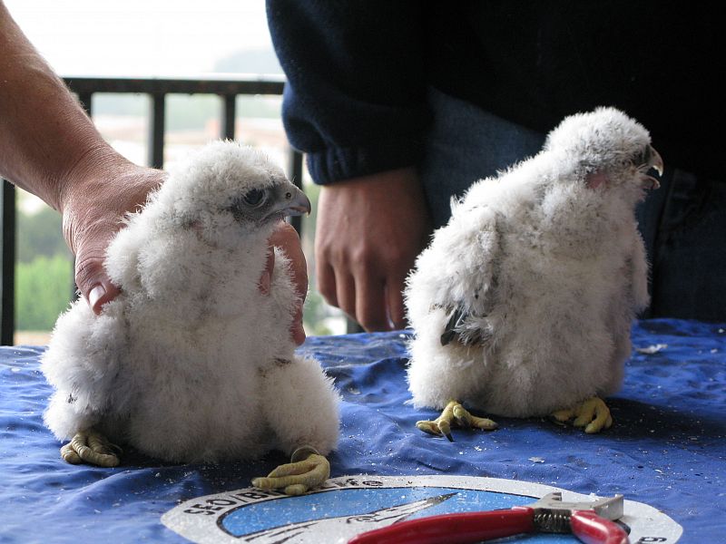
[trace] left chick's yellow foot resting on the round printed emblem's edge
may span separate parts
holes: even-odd
[[[329,476],[329,461],[315,448],[302,446],[292,453],[289,463],[271,471],[267,478],[255,478],[252,485],[260,490],[284,488],[286,495],[302,495],[328,480]]]

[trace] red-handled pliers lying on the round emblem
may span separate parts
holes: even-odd
[[[559,491],[534,504],[510,510],[441,514],[399,521],[369,530],[348,544],[467,544],[520,533],[573,533],[585,544],[628,544],[628,534],[613,520],[623,517],[623,495],[594,502],[563,502]]]

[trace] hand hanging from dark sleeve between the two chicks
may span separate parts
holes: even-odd
[[[413,168],[324,186],[315,239],[320,293],[367,331],[403,328],[406,277],[430,232]]]

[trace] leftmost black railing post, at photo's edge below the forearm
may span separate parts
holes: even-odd
[[[0,344],[13,345],[15,333],[15,186],[2,180],[3,264],[0,289]]]

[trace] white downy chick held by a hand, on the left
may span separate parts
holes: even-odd
[[[172,171],[108,248],[121,294],[100,316],[76,301],[43,355],[55,388],[44,421],[72,439],[66,461],[115,466],[111,442],[181,462],[278,449],[301,462],[255,485],[299,493],[328,477],[338,393],[294,353],[299,296],[279,248],[269,293],[259,286],[276,222],[309,209],[280,168],[233,141]]]

